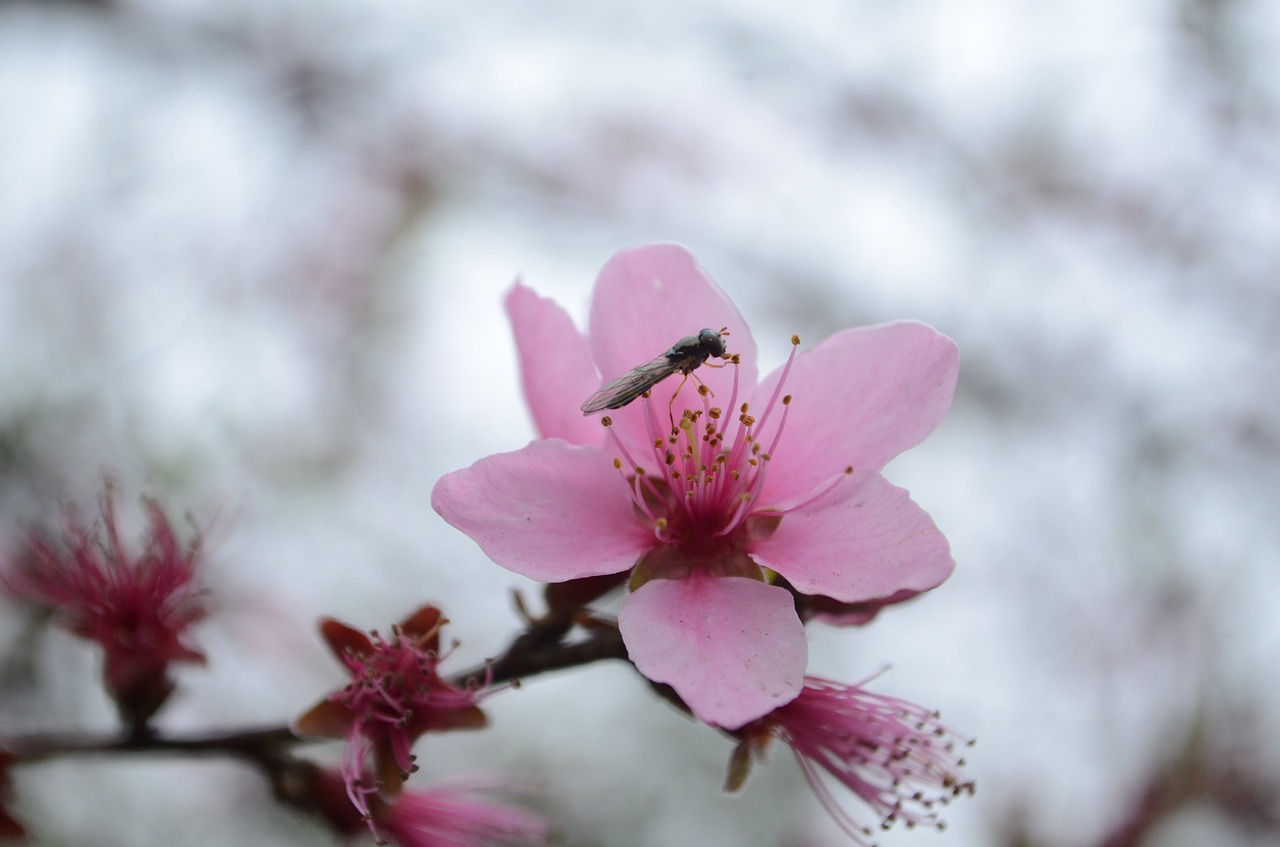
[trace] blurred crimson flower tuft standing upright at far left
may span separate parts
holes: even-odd
[[[100,526],[86,527],[68,507],[63,537],[32,532],[27,555],[4,576],[10,594],[47,606],[68,629],[101,645],[108,692],[134,727],[172,693],[172,663],[205,661],[187,642],[188,628],[206,614],[195,581],[200,537],[179,544],[160,504],[143,504],[148,532],[138,555],[120,540],[108,487]]]

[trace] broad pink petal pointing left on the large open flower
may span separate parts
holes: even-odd
[[[559,439],[445,473],[431,505],[490,559],[544,582],[620,573],[654,544],[612,459]]]

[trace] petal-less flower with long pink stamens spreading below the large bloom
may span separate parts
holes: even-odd
[[[805,677],[795,700],[735,734],[741,741],[730,761],[727,791],[737,791],[753,760],[772,738],[781,738],[822,805],[860,844],[869,843],[872,829],[840,805],[820,772],[870,806],[882,829],[899,820],[908,828],[945,829],[938,806],[974,791],[973,782],[960,775],[964,759],[957,754],[973,741],[943,725],[936,711],[861,685]]]

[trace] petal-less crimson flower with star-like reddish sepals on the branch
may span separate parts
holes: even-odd
[[[422,606],[383,638],[340,621],[320,622],[320,633],[351,673],[351,682],[301,718],[303,736],[344,738],[343,775],[347,792],[367,818],[370,797],[398,793],[413,764],[412,747],[424,733],[479,729],[485,715],[476,705],[484,692],[458,688],[442,679],[440,629],[448,623],[434,606]],[[374,759],[376,780],[366,778]]]

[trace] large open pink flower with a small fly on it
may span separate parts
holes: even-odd
[[[616,255],[585,335],[520,284],[507,310],[541,438],[445,475],[431,503],[535,580],[631,571],[630,658],[707,723],[740,727],[800,692],[797,595],[886,601],[951,573],[946,539],[879,473],[951,403],[956,347],[932,328],[845,330],[758,383],[746,324],[676,244]],[[704,328],[727,328],[736,353],[696,371],[709,393],[677,394],[677,374],[605,418],[581,415],[603,380]]]

